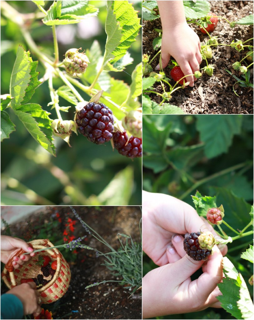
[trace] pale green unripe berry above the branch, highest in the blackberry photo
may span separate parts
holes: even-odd
[[[63,64],[66,68],[66,72],[70,76],[77,76],[78,74],[85,73],[88,63],[90,62],[83,52],[78,52],[81,48],[72,48],[66,51]]]

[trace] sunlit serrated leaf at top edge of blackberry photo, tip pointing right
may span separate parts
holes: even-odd
[[[91,16],[95,16],[98,13],[98,9],[89,4],[89,1],[68,1],[62,2],[61,15],[70,14],[75,19],[86,19]]]

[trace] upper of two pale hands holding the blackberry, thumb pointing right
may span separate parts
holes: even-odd
[[[184,238],[180,238],[180,235],[200,230],[217,235],[214,228],[193,207],[172,196],[143,191],[142,204],[143,251],[158,266],[174,262],[168,259],[171,257],[169,249],[177,248],[178,252],[182,252],[181,257],[185,255]],[[223,248],[222,254],[226,252],[227,246]]]

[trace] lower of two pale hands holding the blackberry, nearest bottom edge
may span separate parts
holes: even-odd
[[[143,318],[200,311],[220,307],[217,283],[222,280],[222,254],[217,246],[212,256],[194,261],[187,254],[174,263],[153,269],[143,277]],[[178,252],[181,255],[181,252]],[[191,281],[190,276],[203,264],[203,274]]]

